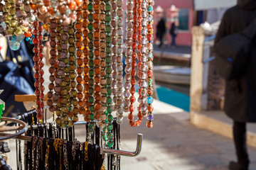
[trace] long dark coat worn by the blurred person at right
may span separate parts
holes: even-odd
[[[226,35],[246,28],[256,16],[256,0],[238,0],[223,16],[215,38],[218,42]],[[254,57],[252,57],[254,56]],[[225,81],[225,113],[238,122],[256,122],[256,50],[248,58],[246,73],[240,79]]]

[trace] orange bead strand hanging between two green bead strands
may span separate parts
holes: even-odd
[[[95,116],[94,120],[100,119],[100,0],[95,0],[94,4],[94,14],[93,14],[93,27],[94,27],[94,54],[95,54],[95,86],[94,86],[94,97],[95,97],[95,103],[94,103],[94,109],[95,109]]]

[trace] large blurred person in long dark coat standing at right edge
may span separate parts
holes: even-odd
[[[242,33],[256,17],[256,0],[238,0],[225,12],[215,38],[215,45],[227,35]],[[252,33],[253,34],[253,33]],[[250,37],[252,37],[251,35]],[[230,162],[230,170],[247,170],[250,159],[246,145],[246,123],[256,122],[256,36],[252,38],[250,55],[242,56],[245,69],[237,77],[225,79],[225,113],[233,119],[233,138],[238,161]],[[223,47],[223,50],[227,50]],[[215,52],[216,52],[215,48]],[[232,50],[231,50],[232,51]],[[217,52],[216,52],[217,53]],[[230,52],[232,53],[232,52]],[[216,55],[216,61],[217,61]],[[217,67],[228,67],[224,64]],[[217,70],[217,69],[216,69]]]

